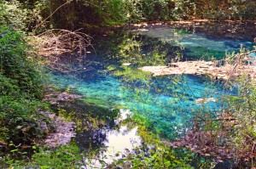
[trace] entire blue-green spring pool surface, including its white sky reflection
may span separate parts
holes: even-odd
[[[117,152],[143,144],[137,127],[122,122],[127,116],[142,121],[160,139],[176,138],[189,127],[194,112],[219,109],[218,99],[224,94],[222,82],[201,76],[152,76],[137,68],[177,60],[222,59],[225,53],[239,51],[241,45],[253,49],[255,34],[255,25],[204,23],[116,29],[95,36],[96,54],[92,49],[87,54],[90,65],[84,72],[52,75],[57,86],[84,95],[85,102],[110,111],[119,109],[109,118],[104,109],[85,110],[91,110],[88,115],[73,114],[79,124],[79,147],[102,149],[113,160]],[[217,101],[203,106],[195,103],[202,98]]]

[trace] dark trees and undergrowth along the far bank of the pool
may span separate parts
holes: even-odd
[[[24,9],[20,20],[29,29],[39,26],[76,30],[169,20],[255,20],[254,0],[20,0],[4,1]],[[3,8],[3,4],[1,4]],[[1,8],[1,7],[0,7]],[[18,11],[18,10],[17,10]],[[11,11],[1,14],[9,18]],[[19,13],[20,14],[20,10]],[[15,16],[17,18],[17,14]],[[3,19],[2,18],[2,19]],[[0,17],[0,22],[3,22]],[[39,24],[40,23],[40,24]]]

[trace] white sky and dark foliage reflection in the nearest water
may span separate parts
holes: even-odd
[[[65,104],[66,110],[61,112],[76,122],[76,143],[85,153],[94,152],[96,158],[88,162],[87,168],[102,168],[101,160],[111,164],[127,155],[135,154],[139,146],[144,145],[137,135],[137,127],[128,127],[123,121],[131,118],[129,110],[109,110],[93,104],[82,104],[81,101]],[[75,110],[75,111],[74,111]],[[147,145],[144,145],[147,146]],[[90,150],[90,152],[88,152]],[[88,159],[84,159],[85,163]]]

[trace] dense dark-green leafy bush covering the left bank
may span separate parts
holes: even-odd
[[[38,112],[45,105],[43,72],[33,59],[24,38],[7,28],[0,29],[0,145],[30,144],[47,131],[49,119]],[[45,126],[45,125],[43,125]],[[0,149],[1,149],[0,147]],[[4,149],[5,149],[4,148]]]

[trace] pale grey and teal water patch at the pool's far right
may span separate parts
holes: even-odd
[[[252,25],[253,26],[253,25]],[[251,28],[252,26],[248,26]],[[138,29],[135,32],[144,35],[146,37],[157,38],[162,42],[172,44],[182,48],[183,59],[222,59],[225,53],[238,52],[241,46],[243,48],[253,49],[253,35],[248,37],[239,37],[235,35],[225,37],[225,34],[215,30],[215,34],[219,34],[218,37],[211,37],[209,32],[197,32],[199,25],[194,25],[193,31],[189,30],[191,27],[186,28],[172,28],[170,26],[164,26],[159,28]],[[229,30],[229,28],[226,28]],[[212,31],[209,29],[209,31]],[[235,31],[236,30],[230,30]],[[252,30],[250,30],[252,31]],[[255,30],[254,30],[255,32]],[[211,32],[212,33],[212,32]],[[239,33],[239,32],[237,32]],[[252,33],[252,32],[250,32]],[[244,31],[242,34],[246,34]]]

